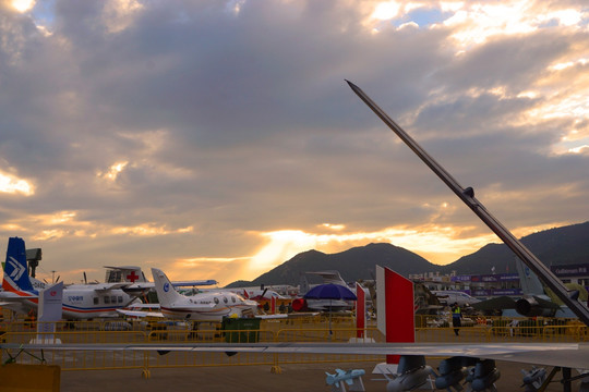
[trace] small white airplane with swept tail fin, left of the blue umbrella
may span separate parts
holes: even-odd
[[[228,291],[209,291],[191,296],[180,294],[164,271],[152,268],[155,290],[159,299],[159,311],[119,309],[131,317],[159,317],[193,321],[221,321],[224,317],[254,316],[257,313],[255,301],[244,299]]]

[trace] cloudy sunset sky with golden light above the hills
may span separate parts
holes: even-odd
[[[585,1],[0,0],[0,252],[225,285],[498,243],[346,79],[516,236],[589,220]]]

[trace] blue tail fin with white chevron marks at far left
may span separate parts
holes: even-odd
[[[2,289],[10,292],[35,292],[28,278],[25,242],[20,237],[10,237],[4,264]]]

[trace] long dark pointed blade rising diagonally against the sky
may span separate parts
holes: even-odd
[[[383,122],[388,125],[388,127],[393,130],[393,132],[395,132],[435,174],[437,174],[456,196],[458,196],[505,243],[505,245],[507,245],[533,272],[536,272],[544,284],[552,289],[558,298],[561,298],[563,303],[565,303],[570,310],[585,322],[585,324],[589,326],[589,309],[576,298],[570,297],[564,283],[474,198],[472,188],[464,188],[460,186],[460,184],[440,163],[430,157],[430,155],[428,155],[428,152],[425,152],[411,136],[378,108],[378,106],[360,89],[360,87],[349,81],[346,82],[348,82],[348,85],[360,99],[362,99],[364,103],[366,103],[369,108],[372,109],[372,111],[381,118],[381,120],[383,120]]]

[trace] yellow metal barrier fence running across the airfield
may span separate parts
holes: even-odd
[[[277,321],[278,320],[278,321]],[[303,319],[263,320],[260,329],[221,329],[218,323],[183,323],[177,321],[134,323],[127,321],[79,322],[59,324],[52,334],[63,343],[252,343],[252,342],[349,342],[357,336],[350,318],[334,318],[330,322],[324,317],[313,317],[313,322]],[[424,320],[423,324],[433,326]],[[508,321],[508,322],[507,322]],[[526,321],[526,320],[525,320]],[[25,328],[24,323],[8,326],[0,336],[7,343],[29,343],[38,338],[35,328]],[[383,342],[384,336],[374,327],[362,331],[365,341]],[[562,324],[551,320],[545,322],[493,320],[476,322],[459,329],[456,336],[453,327],[425,327],[416,329],[417,342],[584,342],[588,341],[588,329],[578,321]],[[41,335],[43,336],[43,335]],[[39,358],[49,365],[57,365],[62,370],[93,369],[142,369],[145,377],[151,368],[204,367],[204,366],[248,366],[268,365],[279,371],[284,364],[312,363],[358,363],[383,362],[383,356],[365,355],[301,355],[301,354],[263,354],[202,352],[170,352],[160,355],[157,352],[141,351],[44,351],[19,353],[2,351],[1,360],[14,359],[19,364],[38,364]],[[19,355],[20,354],[20,355]],[[32,354],[32,355],[29,355]],[[230,353],[228,353],[230,354]]]

